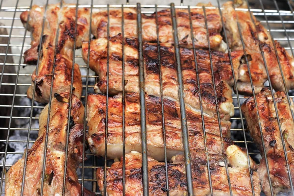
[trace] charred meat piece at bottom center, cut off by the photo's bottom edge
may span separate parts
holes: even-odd
[[[178,156],[168,163],[169,193],[171,196],[183,196],[187,194],[187,182],[185,164],[178,162]],[[251,196],[252,189],[249,172],[246,169],[228,168],[231,187],[234,196]],[[211,165],[211,180],[213,194],[216,196],[229,195],[229,185],[225,167]],[[132,151],[125,154],[125,193],[127,195],[143,195],[142,184],[142,155]],[[209,196],[210,187],[208,171],[205,163],[192,161],[193,192],[196,196]],[[260,181],[256,172],[252,174],[255,195],[260,195]],[[103,169],[97,169],[98,187],[103,190]],[[158,162],[148,157],[148,181],[149,195],[167,195],[165,163]],[[106,171],[106,193],[108,196],[123,195],[123,159],[115,162]]]

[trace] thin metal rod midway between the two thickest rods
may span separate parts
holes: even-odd
[[[156,23],[157,51],[158,51],[158,63],[159,63],[160,102],[161,102],[161,116],[162,116],[162,133],[163,133],[163,147],[164,147],[166,190],[167,190],[167,196],[170,196],[168,160],[167,160],[167,142],[166,142],[166,129],[165,129],[165,117],[164,117],[164,98],[163,98],[162,72],[161,72],[161,60],[160,60],[159,26],[158,26],[158,13],[157,13],[157,5],[156,4],[155,4],[155,23]]]

